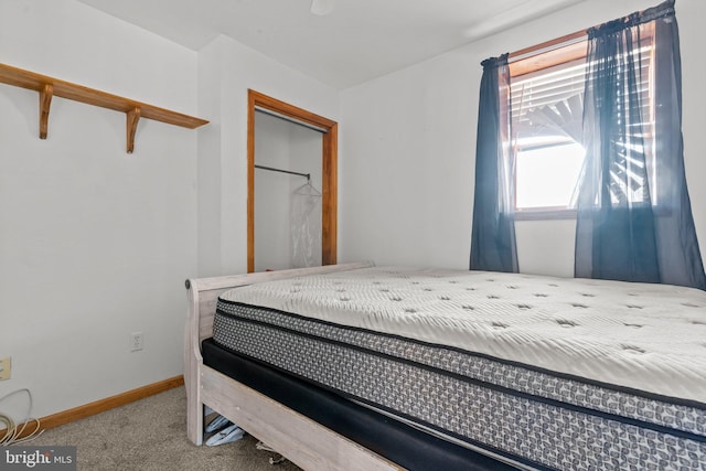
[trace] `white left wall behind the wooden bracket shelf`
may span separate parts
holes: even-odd
[[[72,0],[0,2],[0,62],[196,113],[194,52]],[[40,140],[38,100],[0,85],[0,396],[42,417],[182,373],[196,131],[141,120],[127,154],[124,114],[55,97]]]

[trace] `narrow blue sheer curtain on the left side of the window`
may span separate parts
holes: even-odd
[[[482,66],[470,269],[517,272],[507,54]]]

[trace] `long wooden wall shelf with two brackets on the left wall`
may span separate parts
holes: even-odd
[[[52,97],[72,99],[101,108],[114,109],[126,114],[127,151],[135,149],[135,133],[140,118],[153,119],[169,125],[195,129],[207,124],[205,119],[182,115],[181,113],[159,108],[129,98],[87,88],[71,82],[47,77],[46,75],[24,71],[0,63],[0,83],[36,90],[40,94],[40,139],[46,139],[49,129],[49,111]]]

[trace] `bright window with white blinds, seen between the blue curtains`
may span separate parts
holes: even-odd
[[[642,47],[633,54],[640,54],[642,60],[640,98],[648,129],[642,136],[645,149],[640,151],[644,151],[649,160],[654,122],[650,75],[652,36],[642,42]],[[564,46],[554,46],[511,64],[515,211],[520,218],[573,215],[585,157],[581,133],[588,66],[586,49],[585,38],[573,39]],[[630,159],[613,171],[630,174]],[[617,186],[611,199],[632,192],[631,201],[634,201],[634,195],[645,189],[646,182],[634,179],[630,188]]]

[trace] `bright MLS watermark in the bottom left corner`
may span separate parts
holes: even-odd
[[[76,471],[76,447],[3,447],[0,471]]]

